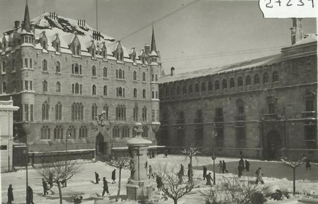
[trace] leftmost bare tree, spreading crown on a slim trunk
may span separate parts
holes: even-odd
[[[55,162],[53,167],[37,169],[37,173],[41,175],[45,180],[50,180],[50,175],[52,176],[52,183],[56,183],[59,189],[60,204],[62,204],[62,190],[61,182],[71,179],[75,174],[82,171],[79,165],[76,165],[74,161],[65,162]]]

